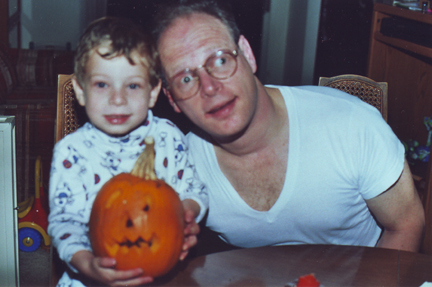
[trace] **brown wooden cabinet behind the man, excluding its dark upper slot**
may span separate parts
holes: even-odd
[[[376,3],[367,73],[375,81],[388,83],[388,123],[396,135],[425,144],[423,118],[432,116],[432,48],[385,36],[381,32],[385,18],[432,27],[432,15]]]

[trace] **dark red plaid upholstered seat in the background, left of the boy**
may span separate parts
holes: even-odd
[[[34,166],[42,157],[44,186],[48,186],[57,74],[71,73],[73,53],[55,50],[12,49],[0,42],[0,114],[15,116],[17,200],[34,194]]]

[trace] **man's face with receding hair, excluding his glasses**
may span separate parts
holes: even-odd
[[[239,50],[237,70],[232,77],[218,80],[200,68],[197,70],[200,88],[195,96],[176,100],[173,90],[167,92],[176,111],[183,111],[215,138],[224,139],[242,132],[250,124],[256,109],[256,65],[246,39],[241,37],[237,46],[218,19],[206,14],[192,14],[176,19],[158,43],[168,84],[174,75],[187,68],[196,69],[221,49]]]

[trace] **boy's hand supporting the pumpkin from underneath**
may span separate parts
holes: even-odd
[[[108,286],[137,286],[153,282],[153,278],[143,276],[140,268],[115,270],[114,258],[95,257],[90,251],[78,251],[72,256],[71,265],[81,273]]]

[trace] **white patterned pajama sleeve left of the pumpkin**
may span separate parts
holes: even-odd
[[[64,147],[64,146],[63,146]],[[70,146],[68,146],[70,148]],[[91,178],[83,165],[76,164],[85,158],[68,158],[70,153],[55,149],[50,175],[50,215],[48,233],[59,252],[60,258],[68,263],[80,250],[91,251],[88,239],[90,207],[88,193]]]

